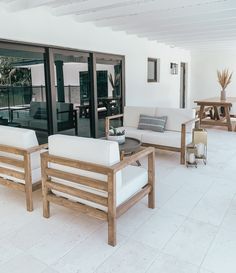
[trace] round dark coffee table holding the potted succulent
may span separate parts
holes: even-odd
[[[125,143],[119,145],[120,149],[120,159],[123,160],[125,156],[132,155],[136,153],[140,147],[142,142],[139,139],[126,137]],[[139,161],[136,161],[138,166],[141,166]]]

